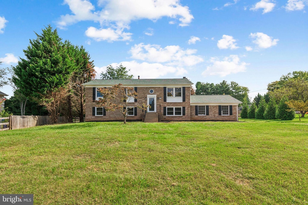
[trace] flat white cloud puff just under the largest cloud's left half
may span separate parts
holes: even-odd
[[[93,38],[95,41],[129,41],[131,40],[131,33],[123,32],[122,29],[96,29],[90,26],[86,32],[87,37]]]

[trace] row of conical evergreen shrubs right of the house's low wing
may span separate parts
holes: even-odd
[[[268,103],[262,99],[258,107],[255,103],[252,103],[250,108],[248,107],[248,104],[244,104],[241,111],[241,118],[293,120],[295,112],[289,108],[286,101],[288,100],[283,98],[277,105],[274,99],[270,99]]]

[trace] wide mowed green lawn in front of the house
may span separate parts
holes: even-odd
[[[0,193],[34,204],[307,204],[308,117],[0,132]]]

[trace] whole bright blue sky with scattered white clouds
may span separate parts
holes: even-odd
[[[3,1],[0,61],[17,65],[48,24],[84,45],[99,74],[122,63],[137,78],[267,84],[308,70],[308,0]],[[12,95],[13,89],[1,91]],[[258,92],[251,92],[254,97]],[[10,97],[10,96],[9,96]]]

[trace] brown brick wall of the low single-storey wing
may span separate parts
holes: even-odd
[[[209,115],[206,116],[198,116],[195,115],[195,105],[190,106],[191,110],[191,120],[228,120],[228,121],[236,121],[236,105],[232,106],[232,115],[224,116],[218,115],[218,105],[209,105]]]

